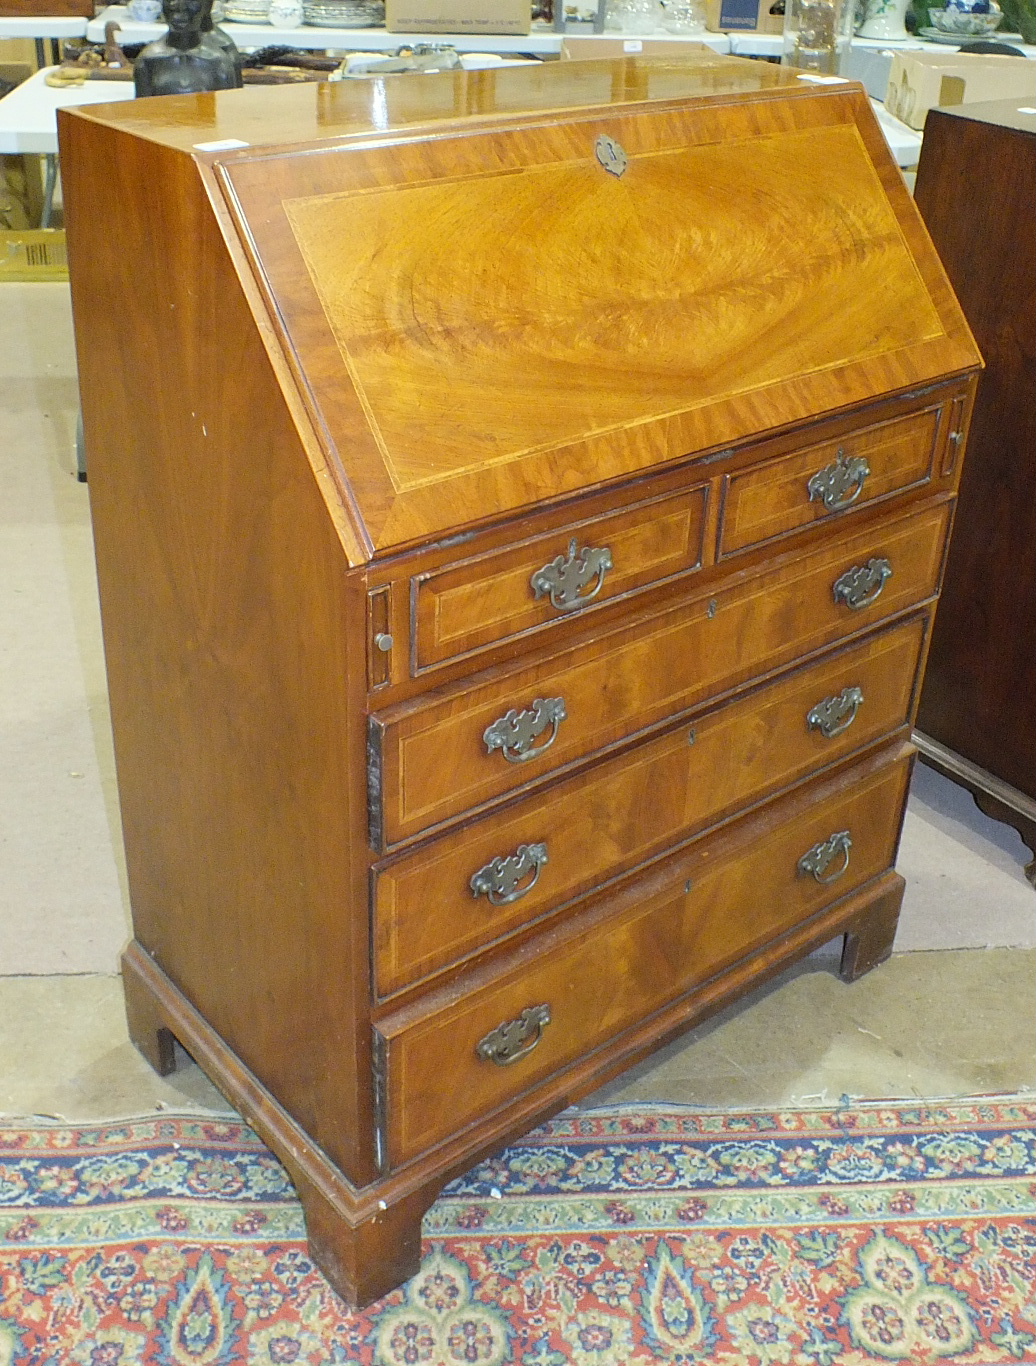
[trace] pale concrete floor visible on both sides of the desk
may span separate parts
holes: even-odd
[[[0,284],[0,1113],[226,1111],[126,1037],[128,934],[68,291]],[[897,953],[846,986],[834,949],[596,1100],[783,1105],[1036,1089],[1036,892],[1017,835],[918,768]]]

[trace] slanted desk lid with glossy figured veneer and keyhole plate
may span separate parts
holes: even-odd
[[[221,175],[374,550],[977,363],[853,86],[456,120]]]

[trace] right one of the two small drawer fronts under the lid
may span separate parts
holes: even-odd
[[[940,414],[912,413],[727,475],[720,556],[924,484]]]

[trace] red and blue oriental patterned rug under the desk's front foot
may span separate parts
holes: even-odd
[[[0,1366],[1036,1362],[1036,1098],[567,1112],[349,1314],[238,1121],[0,1130]]]

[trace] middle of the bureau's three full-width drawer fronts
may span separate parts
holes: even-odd
[[[373,872],[388,996],[905,725],[927,617],[824,656]]]

